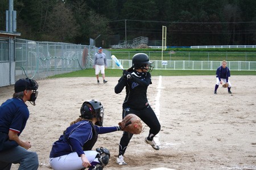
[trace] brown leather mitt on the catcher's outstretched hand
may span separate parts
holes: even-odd
[[[123,131],[127,131],[132,134],[140,134],[142,131],[141,119],[135,114],[127,114],[123,118],[122,122],[119,122],[118,125]]]

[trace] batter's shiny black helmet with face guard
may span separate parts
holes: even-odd
[[[138,53],[133,56],[133,67],[135,69],[145,69],[148,72],[152,71],[154,66],[152,66],[152,62],[149,61],[147,54]],[[148,68],[146,67],[148,66]]]

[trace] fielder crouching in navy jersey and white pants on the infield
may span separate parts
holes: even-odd
[[[217,89],[218,86],[220,86],[220,84],[224,84],[228,83],[228,93],[232,94],[232,92],[230,91],[231,88],[231,83],[229,80],[230,77],[230,71],[229,68],[226,66],[226,61],[222,61],[221,62],[221,66],[218,67],[218,69],[216,70],[216,84],[215,84],[215,88],[214,88],[214,94],[217,94]]]

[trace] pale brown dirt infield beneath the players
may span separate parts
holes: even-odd
[[[51,169],[51,145],[80,114],[85,100],[97,99],[105,107],[104,126],[121,121],[125,90],[114,93],[118,78],[96,83],[96,78],[38,80],[36,106],[27,103],[30,118],[20,136],[39,155],[39,169]],[[159,80],[160,79],[160,80]],[[127,165],[117,165],[122,132],[99,135],[96,147],[110,150],[104,169],[256,169],[256,76],[231,76],[233,94],[218,88],[215,76],[154,76],[148,87],[151,107],[159,111],[160,150],[144,143],[148,127],[134,135],[126,150]],[[0,88],[0,102],[13,94],[13,86]],[[17,169],[13,165],[12,169]]]

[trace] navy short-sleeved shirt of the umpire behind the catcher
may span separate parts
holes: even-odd
[[[30,113],[27,105],[21,99],[8,99],[0,107],[0,131],[9,133],[15,131],[20,135],[26,126]]]

